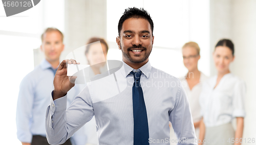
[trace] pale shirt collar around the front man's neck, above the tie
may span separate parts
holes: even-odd
[[[121,69],[121,73],[123,74],[124,77],[126,77],[127,75],[129,75],[129,73],[134,70],[132,67],[130,67],[129,65],[127,65],[126,63],[123,62],[123,68]],[[148,62],[143,65],[142,67],[139,68],[139,70],[148,78],[150,77],[150,72],[151,72],[152,66],[150,64],[150,61],[148,60]]]

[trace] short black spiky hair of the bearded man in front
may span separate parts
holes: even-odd
[[[153,23],[153,20],[150,17],[150,14],[146,10],[144,10],[143,8],[138,9],[138,8],[135,8],[135,7],[125,9],[123,15],[119,19],[119,22],[118,22],[118,35],[119,36],[120,36],[120,31],[122,30],[123,22],[126,19],[129,19],[129,18],[143,18],[143,19],[146,19],[150,23],[152,36],[153,36],[154,23]]]

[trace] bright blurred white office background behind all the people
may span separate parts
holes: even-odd
[[[42,0],[34,8],[10,17],[0,6],[1,144],[20,143],[15,123],[19,83],[44,57],[39,47],[45,28],[56,27],[65,35],[60,60],[94,36],[108,41],[108,60],[121,60],[116,44],[117,24],[128,7],[144,8],[150,13],[155,36],[150,62],[176,77],[187,72],[181,53],[184,43],[199,44],[199,70],[212,76],[217,74],[212,60],[215,44],[222,38],[233,41],[236,57],[230,70],[247,86],[243,138],[256,138],[255,0]]]

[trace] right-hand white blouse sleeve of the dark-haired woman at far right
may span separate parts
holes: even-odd
[[[245,117],[245,106],[244,106],[244,98],[246,94],[246,85],[245,82],[240,80],[235,86],[234,86],[234,94],[233,94],[233,113],[232,117]]]

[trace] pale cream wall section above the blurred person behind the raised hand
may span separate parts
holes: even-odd
[[[66,0],[64,35],[65,51],[60,60],[91,37],[106,38],[106,0]]]

